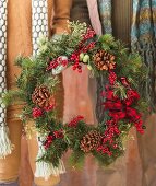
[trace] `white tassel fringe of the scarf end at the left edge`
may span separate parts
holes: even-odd
[[[9,139],[9,128],[5,125],[0,126],[0,159],[11,154],[13,144]]]

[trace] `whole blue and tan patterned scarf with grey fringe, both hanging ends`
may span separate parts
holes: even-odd
[[[120,0],[119,0],[120,1]],[[111,34],[111,0],[97,0],[103,33]],[[125,1],[127,2],[127,1]],[[125,3],[122,5],[124,8]],[[116,15],[113,15],[116,16]],[[122,27],[121,27],[122,33]],[[152,97],[151,105],[156,104],[156,0],[132,0],[131,49],[139,51],[149,68],[147,97]],[[105,77],[97,79],[96,115],[99,123],[104,123],[103,98],[100,92],[106,83]],[[154,108],[154,107],[153,107]]]

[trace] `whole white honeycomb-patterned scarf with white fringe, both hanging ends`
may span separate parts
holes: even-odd
[[[8,0],[0,0],[0,94],[7,91],[5,69],[7,69],[7,9]],[[32,42],[33,56],[38,51],[38,39],[44,35],[48,37],[48,2],[47,0],[32,0]],[[0,158],[5,158],[12,152],[13,144],[9,139],[9,128],[5,123],[5,107],[0,100]],[[43,155],[44,147],[40,142],[43,137],[37,133],[38,155]],[[59,167],[53,167],[52,163],[36,162],[36,177],[48,178],[50,175],[64,173],[63,162],[60,160]]]

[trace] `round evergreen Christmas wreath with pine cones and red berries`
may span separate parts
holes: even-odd
[[[134,126],[137,132],[144,132],[142,113],[148,106],[143,91],[147,71],[137,53],[130,54],[111,35],[97,36],[85,23],[70,22],[69,27],[70,34],[50,40],[41,37],[35,57],[17,58],[16,65],[22,69],[16,79],[17,90],[3,95],[7,105],[14,100],[25,103],[20,115],[23,124],[28,119],[35,123],[39,144],[37,167],[45,163],[58,173],[63,172],[61,158],[69,149],[74,166],[81,165],[88,153],[100,165],[115,162],[124,152],[123,139],[130,129]],[[91,126],[83,116],[75,116],[62,124],[56,117],[53,96],[58,74],[67,68],[81,73],[85,65],[93,75],[106,77],[105,90],[98,95],[104,98],[106,123]]]

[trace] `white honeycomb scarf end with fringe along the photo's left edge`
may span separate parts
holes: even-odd
[[[0,96],[7,90],[7,4],[8,0],[0,0]],[[0,97],[0,158],[11,154],[13,148],[9,139],[9,128],[5,125],[5,106]]]

